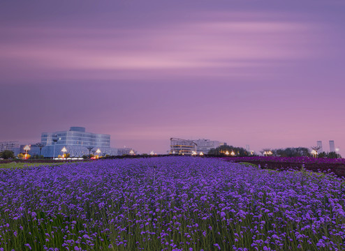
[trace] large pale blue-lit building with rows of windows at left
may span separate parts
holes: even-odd
[[[117,155],[117,149],[110,147],[110,135],[86,132],[85,128],[78,126],[59,132],[43,132],[41,144],[44,145],[42,155],[45,157],[62,155],[64,147],[71,157],[89,155],[98,149],[101,151],[100,155]],[[92,149],[88,149],[91,147]]]

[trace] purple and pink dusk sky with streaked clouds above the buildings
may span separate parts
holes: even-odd
[[[0,141],[85,126],[345,155],[344,1],[1,1]]]

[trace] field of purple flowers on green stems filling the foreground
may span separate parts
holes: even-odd
[[[219,159],[0,169],[0,250],[345,250],[344,179]]]

